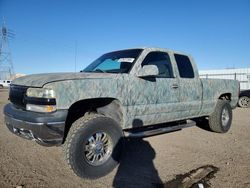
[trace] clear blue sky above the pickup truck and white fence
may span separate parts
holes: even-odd
[[[0,0],[17,73],[69,72],[108,51],[192,54],[199,69],[250,67],[250,0]]]

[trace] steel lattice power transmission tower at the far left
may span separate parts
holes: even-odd
[[[15,34],[7,28],[4,18],[0,29],[0,79],[12,80],[15,72],[9,48],[9,39],[13,39]]]

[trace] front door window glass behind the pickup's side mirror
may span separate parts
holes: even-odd
[[[173,78],[173,71],[169,55],[165,52],[150,52],[142,62],[144,65],[156,65],[159,78]]]

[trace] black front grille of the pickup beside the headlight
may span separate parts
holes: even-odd
[[[11,85],[10,86],[10,102],[12,102],[14,105],[25,108],[25,95],[28,87],[26,86],[17,86],[17,85]]]

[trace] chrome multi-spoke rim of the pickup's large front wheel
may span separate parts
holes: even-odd
[[[93,166],[105,163],[112,154],[113,143],[108,134],[97,132],[87,139],[84,157]]]

